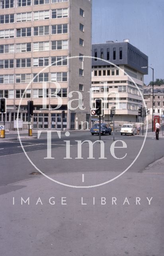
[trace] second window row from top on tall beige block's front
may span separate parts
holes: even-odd
[[[51,10],[51,19],[67,18],[68,8]],[[23,12],[16,14],[16,22],[25,22],[33,20],[47,20],[50,18],[50,10],[33,12]],[[14,14],[0,15],[0,24],[14,23]]]

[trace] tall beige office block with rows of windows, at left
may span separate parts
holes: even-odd
[[[18,118],[27,121],[27,101],[33,100],[34,128],[61,129],[62,110],[63,128],[89,121],[91,60],[82,56],[91,55],[91,7],[91,0],[0,0],[0,97],[7,98],[7,128],[13,128],[22,95]]]

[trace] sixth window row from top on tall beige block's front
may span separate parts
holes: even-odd
[[[67,72],[54,72],[51,73],[51,79],[49,81],[49,73],[34,73],[32,74],[16,74],[16,83],[30,83],[31,77],[33,82],[67,82]],[[14,84],[14,75],[0,75],[0,84]]]

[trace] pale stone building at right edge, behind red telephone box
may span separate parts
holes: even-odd
[[[164,115],[164,85],[153,86],[153,113]],[[152,120],[152,86],[144,87],[144,100],[148,110],[148,118]]]

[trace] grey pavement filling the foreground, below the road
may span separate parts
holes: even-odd
[[[163,256],[163,166],[161,158],[92,189],[41,175],[0,187],[1,255]],[[75,172],[73,182],[81,176]],[[72,183],[69,174],[51,178]]]

